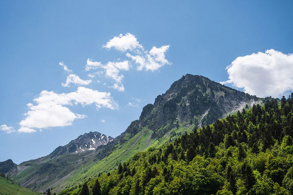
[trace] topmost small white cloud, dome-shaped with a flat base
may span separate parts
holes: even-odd
[[[135,49],[143,49],[143,46],[139,44],[136,37],[131,33],[126,35],[120,34],[118,37],[110,39],[103,47],[111,49],[114,47],[116,50],[126,52],[127,50],[133,51]]]

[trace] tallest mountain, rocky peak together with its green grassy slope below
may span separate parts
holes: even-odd
[[[202,76],[183,76],[153,104],[146,105],[139,119],[131,122],[124,133],[97,152],[96,161],[75,170],[53,188],[60,191],[79,185],[90,177],[117,168],[137,152],[159,147],[194,127],[264,101]]]

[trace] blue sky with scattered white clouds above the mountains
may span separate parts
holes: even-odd
[[[48,155],[89,131],[116,137],[144,105],[187,73],[226,81],[252,95],[288,94],[293,83],[292,10],[291,1],[1,1],[0,125],[5,126],[0,131],[0,161],[20,163]],[[137,42],[129,40],[134,43],[124,47],[126,51],[110,42],[127,33]],[[107,42],[113,44],[107,48]],[[146,60],[142,70],[126,53]],[[159,68],[147,69],[153,65],[147,55]],[[87,59],[97,62],[96,69],[86,71]],[[127,67],[116,64],[123,61]],[[72,71],[64,71],[60,62]],[[108,62],[115,62],[116,76],[124,78],[106,76]],[[82,82],[64,87],[70,74]],[[81,84],[86,80],[91,82]],[[111,88],[115,83],[124,91]],[[57,104],[75,118],[66,125],[25,121],[22,126],[36,132],[19,133],[20,122],[34,109],[27,104],[38,105],[33,99],[40,99],[44,90],[64,93],[69,102]],[[85,91],[103,98],[84,100]]]

